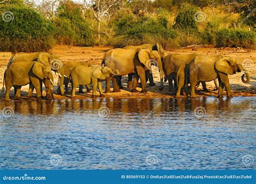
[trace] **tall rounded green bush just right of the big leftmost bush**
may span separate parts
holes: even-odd
[[[73,2],[66,2],[60,4],[57,9],[58,19],[56,21],[57,31],[55,38],[66,38],[71,36],[69,40],[62,41],[66,43],[73,43],[77,46],[88,46],[93,44],[92,29],[89,24],[83,19],[80,9]],[[58,26],[61,27],[58,28]],[[70,32],[70,33],[69,33]],[[71,34],[71,35],[70,35]]]

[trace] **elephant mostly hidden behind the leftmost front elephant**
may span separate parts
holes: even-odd
[[[52,53],[45,53],[45,52],[35,52],[35,53],[17,53],[11,57],[8,63],[8,67],[15,62],[23,62],[23,61],[37,61],[45,66],[51,67],[51,69],[59,74],[59,86],[60,86],[60,93],[64,95],[64,69],[62,61],[60,60],[59,56]],[[44,84],[46,88],[46,99],[51,100],[53,98],[53,88],[51,89],[50,81],[48,79],[44,79]],[[41,89],[42,92],[42,89]],[[30,91],[33,93],[33,91]],[[32,94],[30,94],[32,95]],[[15,88],[15,96],[16,98],[21,97],[21,88]]]

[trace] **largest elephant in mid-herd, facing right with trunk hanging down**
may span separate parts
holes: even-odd
[[[132,92],[137,92],[136,87],[138,83],[138,77],[142,82],[142,93],[147,93],[146,76],[145,71],[151,69],[152,62],[157,65],[160,71],[160,90],[163,90],[163,66],[161,63],[161,57],[157,51],[151,51],[150,49],[124,49],[116,48],[107,51],[104,54],[102,65],[107,66],[113,70],[118,70],[118,76],[127,74],[134,74]],[[117,84],[116,77],[107,77],[105,93],[111,93],[110,81],[113,83],[113,92],[119,92],[120,89]]]

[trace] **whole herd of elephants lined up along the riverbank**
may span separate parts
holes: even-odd
[[[101,66],[76,61],[63,64],[59,56],[52,53],[16,53],[12,55],[4,73],[5,100],[10,101],[11,87],[14,87],[15,98],[21,98],[21,87],[26,84],[29,84],[28,98],[31,98],[35,88],[37,99],[41,100],[42,83],[46,90],[46,100],[54,99],[52,71],[57,72],[59,76],[58,94],[69,93],[68,84],[71,82],[71,98],[75,97],[78,86],[79,92],[82,92],[83,86],[86,86],[87,91],[91,91],[90,84],[92,84],[92,97],[96,97],[97,88],[100,97],[104,96],[101,83],[104,80],[106,81],[105,93],[112,93],[111,81],[113,92],[119,92],[123,88],[123,75],[128,75],[127,87],[132,89],[131,92],[138,92],[136,88],[138,79],[140,79],[142,87],[140,92],[147,93],[146,82],[148,80],[150,86],[156,86],[153,81],[152,65],[159,69],[159,90],[163,90],[165,78],[165,81],[169,82],[169,91],[175,91],[176,97],[180,97],[184,89],[185,91],[188,89],[190,97],[196,97],[196,86],[201,82],[204,90],[207,90],[205,82],[212,80],[218,88],[219,97],[223,95],[224,86],[227,97],[232,97],[228,75],[233,75],[235,72],[245,73],[241,77],[242,82],[250,82],[250,73],[235,58],[198,53],[165,55],[163,47],[159,44],[111,49],[104,54]],[[189,88],[188,84],[190,84]]]

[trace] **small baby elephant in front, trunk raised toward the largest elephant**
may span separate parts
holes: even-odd
[[[99,89],[100,97],[103,95],[102,83],[100,81],[105,80],[106,77],[112,77],[113,75],[118,75],[118,70],[112,70],[109,67],[86,67],[78,65],[71,72],[72,80],[72,92],[71,98],[74,98],[76,88],[78,85],[87,85],[92,83],[92,98],[96,97],[97,87]]]

